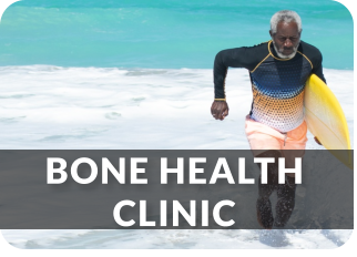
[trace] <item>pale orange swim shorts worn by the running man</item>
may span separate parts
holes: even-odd
[[[268,150],[277,150],[284,156],[284,150],[294,151],[295,157],[303,157],[307,142],[307,124],[304,121],[302,125],[287,133],[280,133],[273,127],[251,119],[245,120],[245,133],[249,141],[254,156]]]

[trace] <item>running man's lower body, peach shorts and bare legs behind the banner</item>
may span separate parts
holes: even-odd
[[[268,164],[268,184],[263,185],[261,179],[258,182],[259,196],[256,205],[258,223],[264,228],[272,228],[273,225],[276,227],[284,227],[295,206],[296,185],[294,173],[287,174],[287,184],[278,185],[278,158],[285,157],[286,167],[293,168],[295,166],[295,157],[304,156],[307,142],[306,122],[294,131],[290,131],[287,134],[282,134],[274,128],[253,121],[247,116],[245,132],[255,157],[275,158],[274,164]],[[284,153],[285,150],[289,150],[287,151],[288,153],[290,153],[290,150],[295,150],[297,152],[294,151],[294,155],[289,156],[289,154]],[[275,189],[277,191],[278,202],[276,205],[276,217],[274,224],[269,196]]]

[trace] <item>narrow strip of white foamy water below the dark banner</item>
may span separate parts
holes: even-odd
[[[16,248],[336,249],[351,230],[2,230]]]

